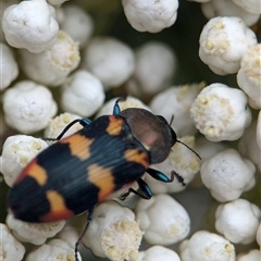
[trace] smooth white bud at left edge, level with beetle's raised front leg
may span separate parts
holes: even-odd
[[[51,91],[30,80],[18,82],[3,95],[5,122],[24,134],[45,128],[57,109]]]

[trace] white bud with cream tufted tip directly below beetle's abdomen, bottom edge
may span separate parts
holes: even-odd
[[[137,260],[142,232],[134,219],[132,210],[115,201],[98,204],[83,243],[98,257],[112,261]]]

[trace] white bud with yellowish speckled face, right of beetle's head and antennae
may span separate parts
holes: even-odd
[[[202,89],[191,105],[190,115],[199,132],[211,141],[238,139],[251,122],[246,95],[223,84]]]

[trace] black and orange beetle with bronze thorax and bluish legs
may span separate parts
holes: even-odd
[[[150,199],[152,192],[141,179],[145,172],[164,183],[174,179],[175,172],[167,177],[149,167],[164,161],[178,141],[172,127],[164,117],[145,109],[121,111],[120,100],[114,104],[113,115],[70,123],[55,139],[59,141],[22,171],[8,197],[8,207],[16,219],[53,222],[88,211],[90,220],[97,203],[134,182],[139,189],[129,188],[122,199],[130,192]],[[83,128],[62,138],[77,122]]]

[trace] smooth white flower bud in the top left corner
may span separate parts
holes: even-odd
[[[55,42],[53,8],[45,0],[22,1],[5,9],[2,28],[10,46],[39,53]]]

